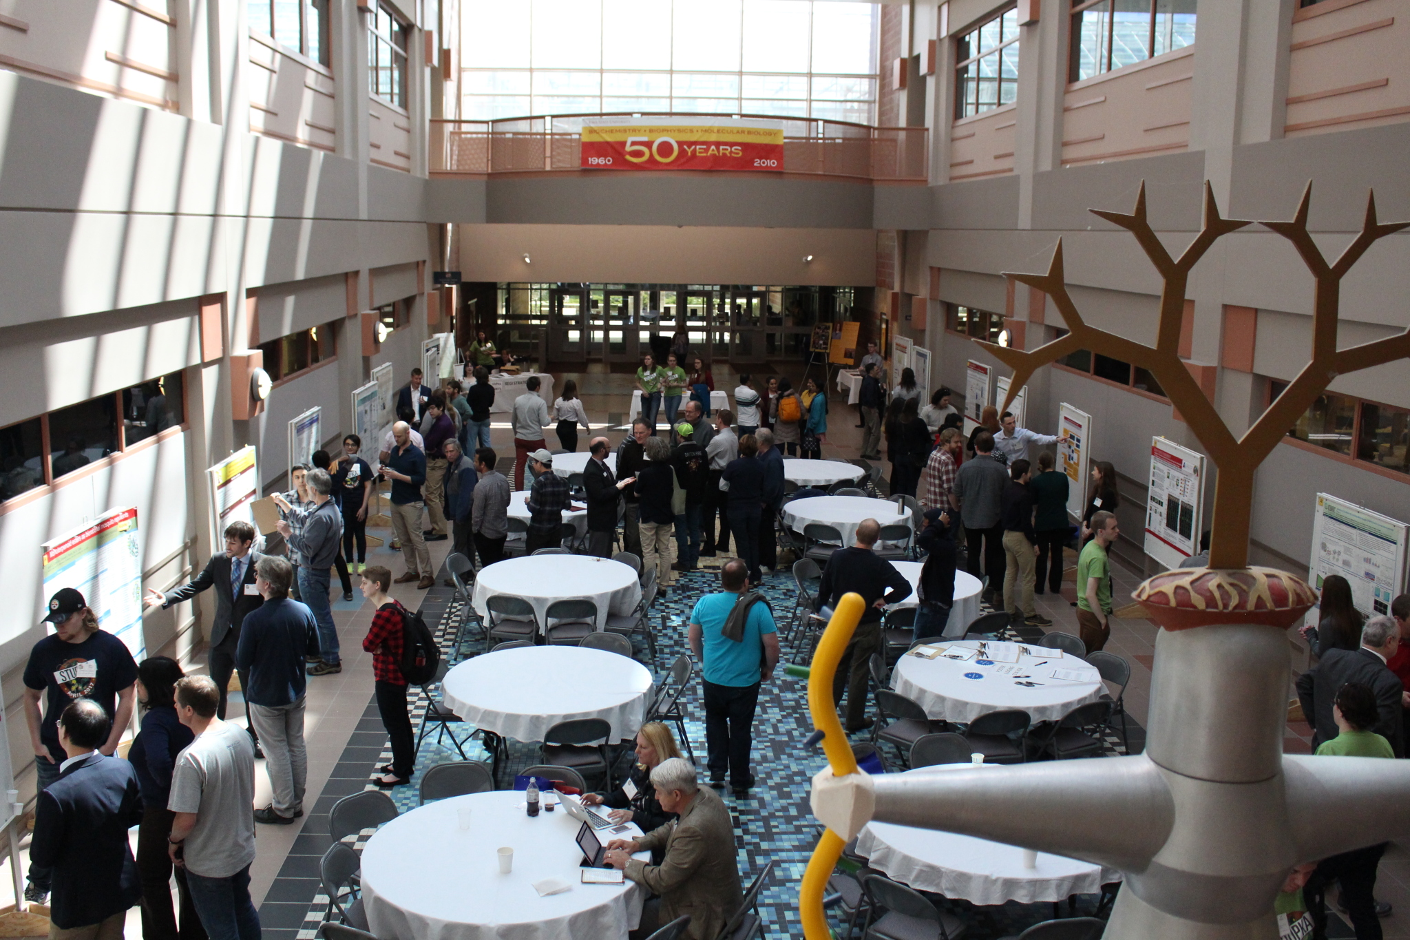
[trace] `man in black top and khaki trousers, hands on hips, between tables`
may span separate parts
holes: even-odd
[[[911,582],[905,575],[871,551],[880,537],[881,523],[863,519],[857,526],[856,544],[832,552],[822,572],[822,583],[818,585],[819,613],[823,607],[836,607],[842,595],[849,592],[862,595],[862,600],[867,605],[832,679],[833,702],[842,702],[842,689],[846,684],[847,731],[871,727],[871,719],[866,717],[867,679],[871,654],[881,651],[881,612],[887,605],[911,596]]]

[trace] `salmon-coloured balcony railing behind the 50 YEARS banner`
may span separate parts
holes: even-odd
[[[580,169],[582,121],[598,114],[516,117],[499,121],[433,120],[430,172],[525,173]],[[618,117],[618,116],[613,116]],[[856,179],[925,180],[924,127],[869,127],[846,121],[763,114],[620,114],[667,123],[673,117],[781,121],[784,172]],[[602,171],[612,172],[612,171]]]

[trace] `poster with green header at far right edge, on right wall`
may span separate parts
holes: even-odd
[[[1351,599],[1368,617],[1390,613],[1406,589],[1406,543],[1410,526],[1369,509],[1317,493],[1313,516],[1311,581],[1321,590],[1327,575],[1351,583]],[[1308,612],[1308,617],[1314,614]]]

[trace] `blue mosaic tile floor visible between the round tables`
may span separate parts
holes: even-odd
[[[725,559],[702,561],[718,565]],[[687,651],[685,620],[695,600],[702,593],[716,590],[718,583],[718,575],[712,569],[688,572],[680,576],[677,586],[670,590],[668,596],[656,602],[653,623],[657,630],[657,655],[654,664],[647,664],[653,672],[663,675],[675,657]],[[787,620],[794,607],[795,596],[791,574],[780,571],[767,575],[763,592],[768,598],[776,617],[780,621]],[[451,662],[478,655],[485,648],[484,637],[478,633],[474,617],[470,619],[460,645],[455,645],[457,627],[462,613],[461,602],[440,583],[427,592],[422,606],[426,621],[437,624],[434,627],[437,640]],[[1041,636],[1041,630],[1021,627],[1012,638],[1035,641]],[[785,643],[784,661],[790,661],[792,654],[794,650]],[[639,640],[637,658],[644,662],[646,655],[644,644]],[[802,655],[807,657],[807,650]],[[431,692],[434,693],[436,689],[433,688]],[[704,762],[705,724],[698,682],[682,700],[685,713],[697,716],[687,720],[687,731],[697,758]],[[413,726],[419,729],[426,712],[426,693],[417,689],[415,698],[409,695],[409,702]],[[426,769],[441,762],[461,760],[454,744],[448,740],[448,733],[454,731],[461,741],[465,741],[472,730],[468,724],[450,726],[447,737],[440,741],[437,741],[436,731],[430,733],[417,754],[416,774],[412,782],[391,791],[398,809],[407,812],[417,806],[419,781]],[[767,937],[802,936],[797,909],[798,885],[818,836],[816,822],[808,808],[808,782],[825,764],[821,750],[804,747],[811,733],[812,723],[807,713],[807,684],[801,679],[777,678],[761,691],[754,719],[754,774],[759,785],[746,799],[736,799],[729,791],[722,791],[735,816],[739,868],[746,884],[753,872],[757,872],[767,861],[774,861],[773,878],[764,886],[760,898],[764,936]],[[1144,730],[1132,723],[1129,736],[1132,753],[1141,750],[1144,737]],[[488,751],[478,738],[465,741],[462,746],[470,760],[489,760]],[[1105,753],[1124,753],[1120,736],[1108,736]],[[887,754],[887,760],[894,764],[893,758],[894,754]],[[327,898],[321,893],[317,882],[317,861],[319,855],[331,844],[331,839],[327,836],[329,809],[341,796],[374,789],[369,781],[374,768],[389,760],[391,750],[386,734],[378,719],[375,703],[369,703],[358,730],[352,734],[347,751],[333,772],[333,778],[313,806],[295,850],[261,908],[266,937],[293,940],[295,937],[313,939],[317,934],[327,909]],[[539,762],[536,744],[509,743],[509,771],[522,769],[536,762]],[[502,771],[502,778],[508,779],[505,774]],[[371,833],[364,833],[360,840],[369,836]],[[976,940],[1017,934],[1032,923],[1055,916],[1055,905],[1049,903],[1021,905],[1011,902],[998,908],[974,908],[967,902],[955,901],[943,903],[970,924],[967,936]],[[1096,895],[1079,896],[1074,899],[1072,910],[1080,915],[1091,913],[1096,903]],[[1065,915],[1067,910],[1067,905],[1063,905]],[[838,936],[842,936],[840,932]]]

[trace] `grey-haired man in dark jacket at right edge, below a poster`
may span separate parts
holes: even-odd
[[[1368,731],[1390,741],[1396,757],[1404,757],[1402,731],[1403,707],[1410,707],[1410,692],[1386,665],[1400,648],[1400,629],[1392,617],[1372,617],[1361,631],[1361,648],[1327,650],[1321,661],[1297,676],[1297,700],[1313,726],[1313,750],[1337,737],[1331,706],[1337,692],[1348,682],[1359,682],[1376,695],[1380,719]]]

